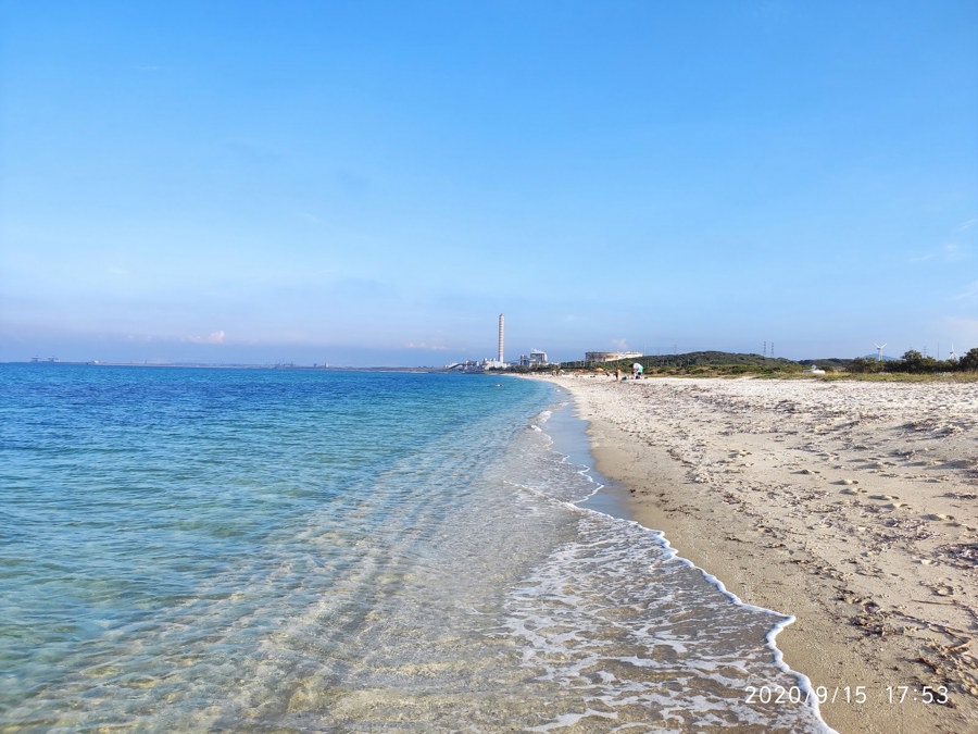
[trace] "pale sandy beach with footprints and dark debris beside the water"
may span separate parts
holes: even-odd
[[[830,726],[978,731],[978,385],[552,380],[635,520],[797,618]]]

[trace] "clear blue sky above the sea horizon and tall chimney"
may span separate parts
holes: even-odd
[[[0,360],[978,346],[978,3],[0,0]]]

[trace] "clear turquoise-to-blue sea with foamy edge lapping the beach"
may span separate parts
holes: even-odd
[[[0,731],[824,732],[554,384],[0,365]]]

